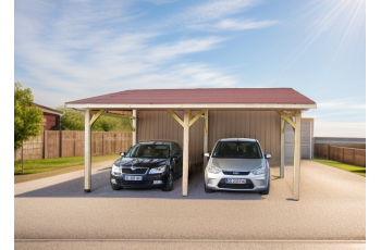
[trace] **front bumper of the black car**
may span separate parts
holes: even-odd
[[[147,174],[147,175],[138,175],[142,176],[142,180],[124,180],[124,175],[113,175],[110,173],[110,184],[112,186],[118,186],[122,188],[162,188],[167,185],[168,180],[168,172],[165,171],[162,174]],[[135,176],[135,175],[128,175]],[[115,184],[113,184],[113,180]],[[153,180],[161,180],[162,184],[153,184]]]

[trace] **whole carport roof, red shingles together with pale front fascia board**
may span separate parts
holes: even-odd
[[[67,108],[113,110],[308,110],[316,102],[292,88],[134,89],[66,102]]]

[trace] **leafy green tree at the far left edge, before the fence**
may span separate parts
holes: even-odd
[[[41,132],[44,113],[33,105],[33,100],[29,88],[23,89],[21,83],[14,83],[14,150]]]

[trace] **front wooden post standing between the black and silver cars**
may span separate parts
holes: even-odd
[[[183,196],[188,195],[189,110],[184,110]]]

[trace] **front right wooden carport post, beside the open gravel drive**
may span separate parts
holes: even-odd
[[[300,182],[300,127],[302,127],[302,112],[296,111],[295,114],[295,140],[294,140],[294,184],[293,184],[293,199],[299,200],[299,182]]]

